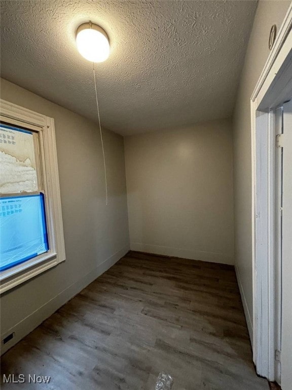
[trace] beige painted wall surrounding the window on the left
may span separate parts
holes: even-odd
[[[66,250],[64,263],[1,296],[2,336],[13,329],[18,341],[128,251],[124,143],[104,131],[106,206],[97,125],[3,79],[1,98],[55,119]]]

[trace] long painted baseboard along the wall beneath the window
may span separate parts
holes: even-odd
[[[23,318],[20,322],[15,324],[7,332],[1,335],[1,340],[10,335],[12,332],[15,333],[15,337],[7,342],[5,345],[1,345],[1,354],[5,353],[9,348],[18,343],[23,337],[28,335],[33,329],[38,327],[45,319],[50,317],[56,310],[68,302],[71,298],[80,293],[83,288],[88,286],[98,276],[103,274],[109,268],[111,268],[117,261],[123,257],[129,250],[129,246],[125,246],[112,256],[108,257],[104,262],[99,264],[95,269],[91,270],[80,280],[66,287],[61,293],[52,298],[49,302],[46,302],[38,310],[29,314]]]

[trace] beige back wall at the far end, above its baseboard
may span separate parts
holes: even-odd
[[[131,249],[233,264],[231,120],[125,137]]]

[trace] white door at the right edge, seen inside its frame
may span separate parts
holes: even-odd
[[[292,390],[292,101],[283,104],[281,387]]]

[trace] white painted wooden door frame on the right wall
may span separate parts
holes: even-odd
[[[275,377],[275,114],[292,99],[292,3],[251,96],[253,362]]]

